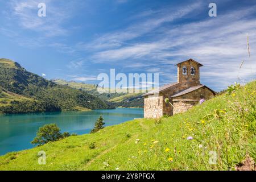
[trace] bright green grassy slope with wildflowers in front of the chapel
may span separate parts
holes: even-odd
[[[256,159],[255,88],[256,81],[158,122],[136,119],[11,152],[0,156],[0,170],[234,170],[246,155]],[[38,164],[42,150],[46,165]]]

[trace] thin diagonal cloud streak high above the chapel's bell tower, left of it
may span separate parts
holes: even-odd
[[[81,46],[82,48],[90,49],[105,49],[126,46],[127,44],[129,44],[127,43],[127,41],[147,34],[155,28],[160,27],[163,23],[170,23],[175,21],[176,19],[180,19],[183,16],[192,13],[192,11],[197,9],[198,7],[200,7],[200,3],[194,3],[185,7],[183,6],[182,9],[176,11],[174,8],[162,9],[161,11],[158,11],[159,14],[155,14],[154,12],[153,17],[131,24],[129,27],[125,28],[125,30],[107,33],[93,40],[92,43],[83,44]]]

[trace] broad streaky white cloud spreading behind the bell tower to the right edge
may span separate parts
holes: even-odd
[[[189,7],[182,15],[192,10],[197,11],[198,8],[196,5],[193,8]],[[176,16],[173,15],[172,18],[166,15],[165,18],[159,20],[145,20],[144,23],[141,23],[142,25],[147,24],[147,26],[142,26],[147,27],[142,28],[143,31],[136,31],[136,28],[129,27],[95,40],[93,43],[100,42],[100,44],[96,44],[96,48],[104,48],[104,46],[107,48],[96,51],[92,59],[96,63],[102,61],[122,62],[127,67],[134,65],[134,67],[142,69],[148,68],[147,64],[150,64],[151,67],[160,68],[156,71],[160,71],[163,76],[162,80],[166,80],[165,78],[168,77],[175,78],[175,74],[170,73],[172,64],[193,58],[205,65],[201,68],[201,80],[213,84],[216,88],[218,85],[218,89],[220,89],[223,88],[223,85],[236,81],[238,77],[248,80],[256,76],[254,71],[256,69],[255,54],[251,56],[251,60],[254,62],[251,62],[250,66],[244,65],[242,69],[239,69],[241,61],[247,59],[247,33],[250,36],[251,49],[256,46],[256,18],[253,16],[255,8],[253,6],[230,11],[225,15],[220,15],[221,18],[218,16],[216,18],[208,17],[205,20],[192,23],[172,25],[171,28],[165,27],[163,22],[174,20]],[[176,14],[180,15],[180,10],[176,11]],[[157,30],[154,30],[156,27],[158,27]],[[144,42],[136,40],[147,31],[154,31],[154,34],[151,32],[151,36],[148,36]],[[160,35],[158,39],[155,38],[156,35]],[[113,40],[120,44],[112,44]],[[121,43],[132,40],[135,43]],[[97,47],[97,45],[103,46]],[[145,61],[147,61],[146,64]],[[249,60],[246,60],[246,63],[248,62]],[[170,67],[166,67],[167,65]]]

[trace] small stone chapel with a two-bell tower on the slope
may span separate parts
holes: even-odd
[[[202,64],[189,59],[176,66],[177,82],[163,85],[142,95],[144,118],[160,118],[163,115],[181,113],[198,104],[201,99],[208,100],[216,95],[212,89],[200,84]],[[164,102],[166,98],[172,105]]]

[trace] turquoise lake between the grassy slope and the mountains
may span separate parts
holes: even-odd
[[[143,109],[117,108],[0,115],[0,155],[34,147],[30,142],[36,136],[36,131],[49,123],[56,123],[62,133],[89,133],[100,115],[104,118],[105,126],[110,126],[134,118],[143,118]]]

